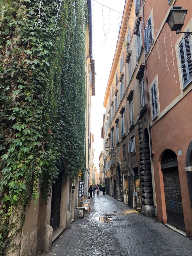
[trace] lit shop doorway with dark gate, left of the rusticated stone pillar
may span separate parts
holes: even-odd
[[[140,198],[140,185],[139,185],[139,176],[134,175],[134,176],[129,176],[129,206],[133,208],[133,195],[135,192],[134,196],[134,209],[136,211],[141,210],[141,198]]]

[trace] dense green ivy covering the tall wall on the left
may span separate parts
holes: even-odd
[[[40,2],[0,0],[0,255],[39,180],[46,202],[59,172],[85,168],[87,3]]]

